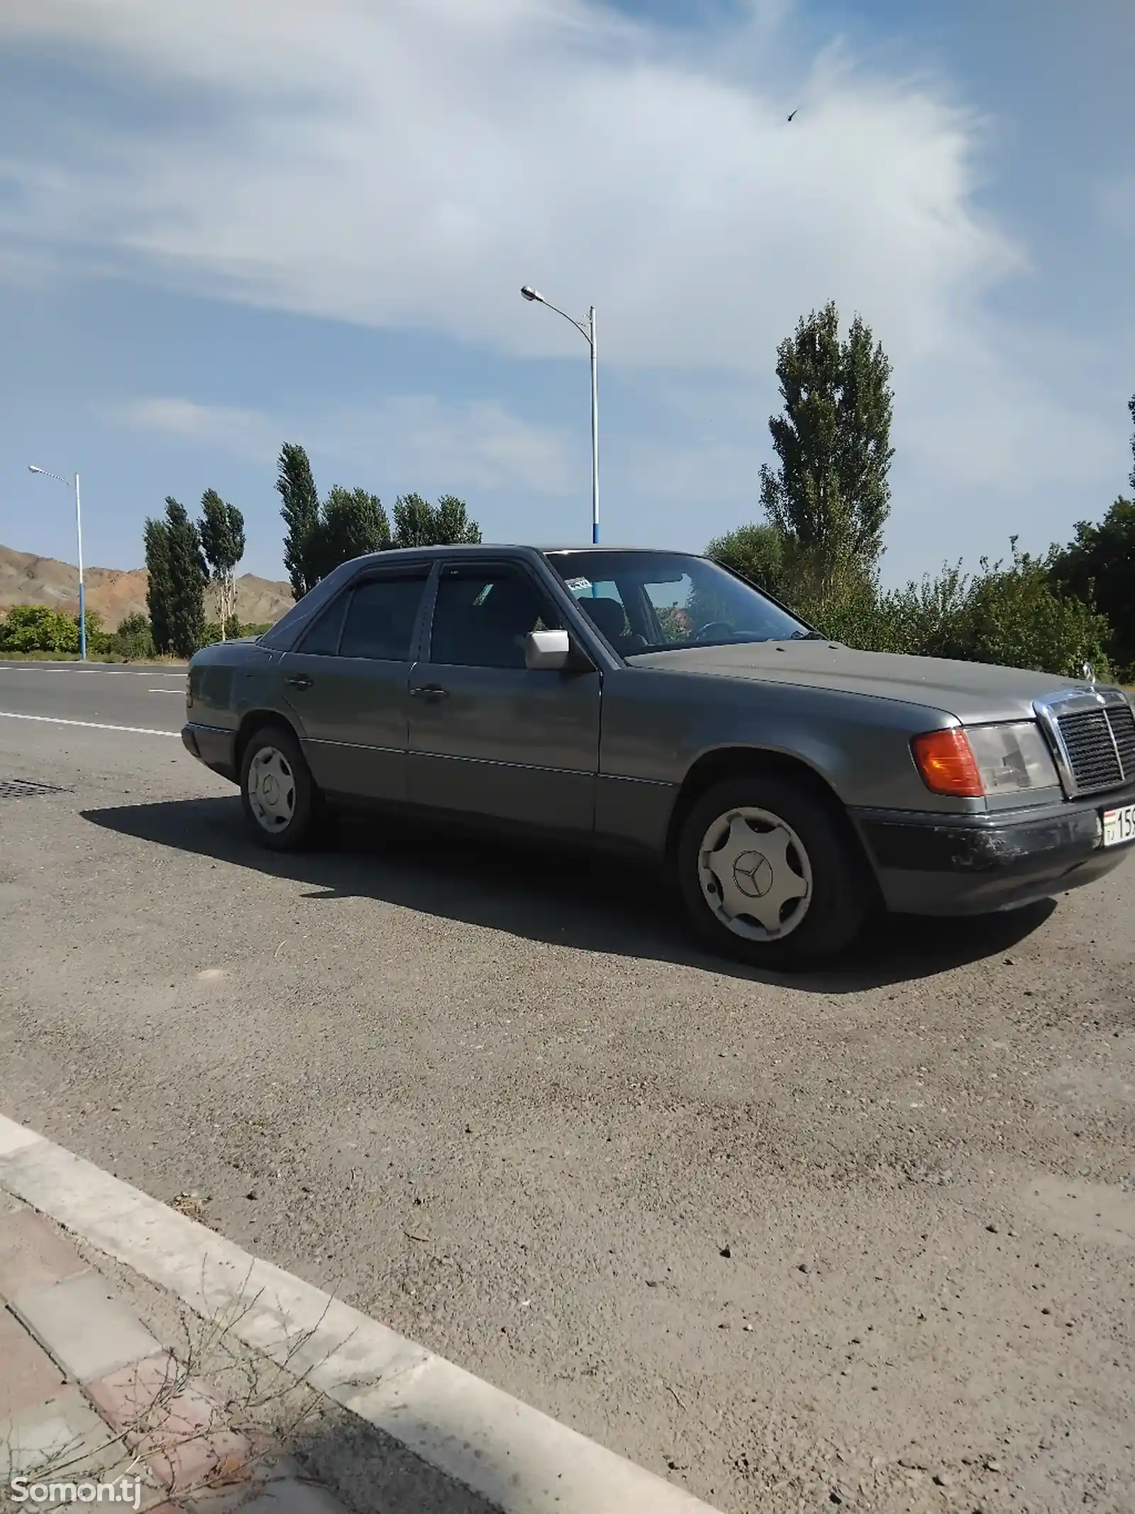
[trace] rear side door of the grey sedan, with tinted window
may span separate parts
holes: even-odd
[[[281,659],[283,696],[327,793],[406,799],[409,695],[430,565],[357,580]]]

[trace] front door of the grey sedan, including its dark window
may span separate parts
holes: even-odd
[[[533,672],[524,639],[561,625],[519,563],[443,565],[410,680],[415,804],[590,831],[601,675]]]

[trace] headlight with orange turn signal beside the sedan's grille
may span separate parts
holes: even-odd
[[[1059,783],[1035,721],[928,731],[914,737],[911,752],[932,793],[959,799],[1052,789]]]

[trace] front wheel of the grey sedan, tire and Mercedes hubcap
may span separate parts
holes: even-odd
[[[678,883],[707,946],[776,970],[846,951],[876,898],[834,802],[761,772],[725,778],[695,801],[678,842]]]

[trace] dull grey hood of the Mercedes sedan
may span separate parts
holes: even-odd
[[[991,663],[947,662],[941,657],[902,657],[861,653],[834,642],[745,642],[728,646],[689,646],[628,657],[633,668],[658,668],[711,678],[751,678],[790,683],[805,689],[832,689],[876,699],[900,699],[946,710],[959,721],[1031,719],[1032,701],[1059,689],[1077,687],[1058,678]]]

